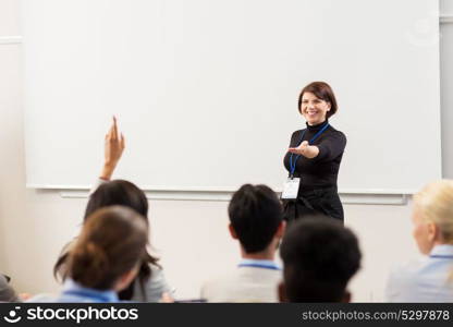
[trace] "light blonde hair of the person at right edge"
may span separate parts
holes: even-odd
[[[453,180],[440,180],[426,185],[414,195],[423,219],[433,222],[444,243],[453,243]]]

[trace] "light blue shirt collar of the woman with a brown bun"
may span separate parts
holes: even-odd
[[[57,302],[120,302],[115,291],[100,291],[81,286],[68,278],[63,284],[63,291],[57,298]]]

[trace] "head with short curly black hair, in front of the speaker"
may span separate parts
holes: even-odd
[[[290,225],[280,249],[282,302],[348,302],[347,282],[360,267],[357,238],[329,217]]]

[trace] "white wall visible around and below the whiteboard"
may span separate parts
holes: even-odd
[[[450,7],[453,13],[451,2],[444,1],[443,7]],[[0,37],[21,34],[17,16],[16,0],[0,0]],[[446,86],[453,85],[453,61],[445,60],[453,58],[453,24],[442,25],[441,32],[443,164],[444,175],[453,178],[453,150],[448,143],[453,134],[445,128],[453,125],[449,113],[453,97],[446,92]],[[57,292],[59,286],[51,268],[61,246],[77,232],[86,199],[62,198],[58,192],[24,187],[20,51],[20,45],[0,45],[0,270],[13,277],[21,292]],[[94,177],[98,169],[94,167]],[[179,296],[196,296],[200,275],[236,262],[237,245],[229,239],[225,228],[226,205],[150,202],[152,244]],[[351,286],[356,301],[381,301],[389,267],[416,254],[409,213],[409,205],[345,206],[346,225],[358,234],[364,252],[364,268]]]

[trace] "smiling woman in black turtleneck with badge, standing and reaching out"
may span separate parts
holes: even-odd
[[[344,220],[336,179],[346,136],[329,124],[336,109],[332,88],[325,82],[310,83],[301,92],[298,111],[307,128],[293,133],[284,157],[289,171],[282,193],[286,220],[317,213]]]

